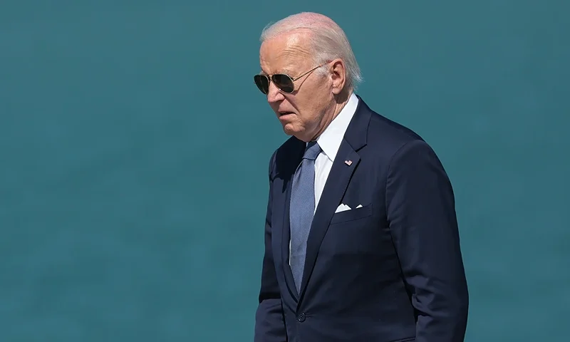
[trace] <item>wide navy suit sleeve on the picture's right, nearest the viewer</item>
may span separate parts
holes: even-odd
[[[416,342],[461,342],[469,295],[452,186],[423,140],[398,150],[386,182],[390,232],[417,314]]]

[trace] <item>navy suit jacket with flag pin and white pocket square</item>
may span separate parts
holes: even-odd
[[[450,180],[419,135],[358,99],[311,225],[300,293],[288,212],[305,143],[291,137],[271,156],[254,341],[463,341],[468,293]],[[353,209],[335,213],[341,203]]]

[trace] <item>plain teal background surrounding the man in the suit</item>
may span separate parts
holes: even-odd
[[[286,139],[252,76],[299,11],[444,163],[466,341],[566,340],[568,1],[193,2],[1,1],[0,341],[252,341]]]

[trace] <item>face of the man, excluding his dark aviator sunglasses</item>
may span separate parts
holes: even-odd
[[[261,44],[259,61],[262,73],[269,76],[284,73],[297,78],[315,68],[317,65],[310,52],[307,34],[286,33]],[[321,68],[327,66],[325,64]],[[267,102],[287,135],[306,142],[314,140],[326,125],[323,118],[334,103],[331,78],[311,71],[294,84],[294,92],[288,94],[270,82]]]

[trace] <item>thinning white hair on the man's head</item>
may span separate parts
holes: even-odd
[[[314,63],[321,64],[334,58],[341,58],[346,68],[346,86],[348,89],[356,90],[363,81],[361,69],[343,29],[327,16],[311,12],[293,14],[267,25],[261,32],[259,40],[263,43],[275,36],[300,29],[311,32],[309,41],[314,53]],[[316,72],[323,74],[326,70],[319,68]]]

